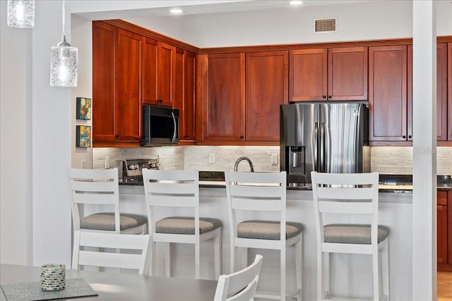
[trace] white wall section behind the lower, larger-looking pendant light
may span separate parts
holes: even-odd
[[[36,1],[35,16],[31,121],[33,264],[67,265],[71,259],[67,176],[71,166],[71,89],[49,85],[50,48],[61,41],[61,2]],[[67,28],[66,37],[71,41]]]

